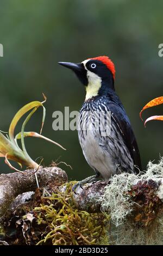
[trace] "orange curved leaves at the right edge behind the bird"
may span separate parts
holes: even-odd
[[[141,110],[141,112],[140,112],[140,118],[142,119],[142,112],[143,112],[146,108],[154,107],[154,106],[160,105],[160,104],[162,104],[162,103],[163,103],[163,96],[157,97],[157,98],[155,98],[155,99],[149,101],[149,102],[142,108],[142,110]],[[145,126],[146,126],[146,123],[147,123],[148,121],[151,121],[151,120],[161,120],[161,121],[163,121],[163,115],[153,115],[152,117],[147,118],[146,121],[145,121],[145,123],[144,123]],[[143,119],[142,119],[142,121],[143,121]]]

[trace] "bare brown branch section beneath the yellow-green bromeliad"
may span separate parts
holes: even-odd
[[[58,167],[39,168],[36,172],[40,187],[53,182],[53,186],[67,182],[67,174]],[[13,200],[24,192],[35,191],[37,188],[34,170],[24,170],[22,173],[0,175],[0,217],[9,209]]]

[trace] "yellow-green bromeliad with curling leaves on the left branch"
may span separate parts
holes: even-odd
[[[27,153],[25,144],[24,144],[24,137],[37,137],[37,138],[43,138],[46,139],[46,141],[52,142],[62,149],[64,149],[60,144],[57,142],[52,141],[51,139],[48,139],[41,135],[43,124],[45,121],[45,115],[46,115],[46,109],[43,106],[43,103],[46,102],[46,97],[43,94],[44,101],[32,101],[28,103],[27,105],[23,106],[15,115],[15,117],[12,119],[9,132],[7,136],[4,136],[3,133],[0,131],[0,157],[5,157],[5,163],[9,165],[11,169],[16,170],[17,172],[22,172],[21,170],[18,170],[12,164],[9,162],[9,160],[13,160],[17,162],[21,168],[22,165],[27,166],[28,168],[34,168],[37,170],[40,166],[40,164],[36,163]],[[35,113],[35,111],[39,108],[43,108],[43,116],[42,116],[42,125],[41,125],[41,131],[40,133],[37,132],[25,132],[25,126],[32,117],[32,115]],[[14,136],[15,127],[18,123],[18,121],[23,117],[24,114],[26,114],[28,111],[32,110],[27,118],[23,121],[21,132],[19,132],[16,136]],[[17,143],[17,139],[21,139],[21,146],[19,147]],[[23,173],[23,172],[22,172]]]

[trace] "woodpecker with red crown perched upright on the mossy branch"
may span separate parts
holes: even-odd
[[[108,56],[81,63],[59,62],[71,69],[85,86],[86,96],[78,119],[78,138],[84,157],[95,175],[73,187],[83,188],[99,178],[141,172],[141,159],[130,120],[115,92],[115,65]],[[101,125],[102,123],[102,125]]]

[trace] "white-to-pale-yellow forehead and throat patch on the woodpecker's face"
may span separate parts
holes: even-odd
[[[89,62],[89,60],[90,59],[86,59],[84,60],[84,62],[82,62],[84,65],[84,68],[87,70],[86,75],[88,80],[88,84],[85,87],[86,88],[85,100],[88,100],[93,96],[97,96],[98,91],[102,85],[102,78],[86,68],[86,63]]]

